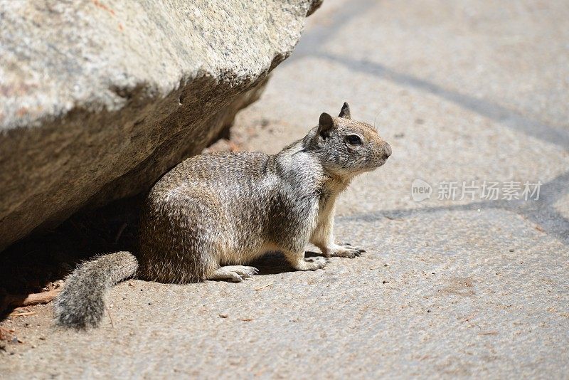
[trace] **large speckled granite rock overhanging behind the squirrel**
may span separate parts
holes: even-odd
[[[0,1],[0,250],[200,152],[320,2]]]

